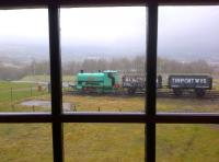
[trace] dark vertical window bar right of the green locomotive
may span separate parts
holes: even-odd
[[[157,37],[158,1],[149,0],[147,19],[147,96],[146,113],[150,123],[146,125],[146,161],[155,162],[155,91],[157,91]]]

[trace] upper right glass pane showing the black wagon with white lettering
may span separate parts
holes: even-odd
[[[219,7],[160,7],[158,112],[219,112]]]

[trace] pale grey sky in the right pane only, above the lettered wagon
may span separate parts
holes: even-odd
[[[219,7],[162,8],[159,53],[219,55],[218,20]]]

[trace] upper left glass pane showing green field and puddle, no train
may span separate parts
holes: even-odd
[[[0,10],[0,112],[50,111],[47,10]]]

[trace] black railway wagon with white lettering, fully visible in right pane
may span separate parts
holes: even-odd
[[[185,90],[194,90],[197,96],[204,96],[206,90],[212,89],[212,78],[207,74],[169,76],[169,89],[180,96]]]

